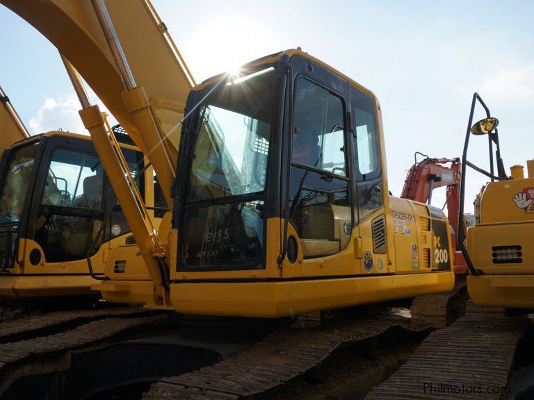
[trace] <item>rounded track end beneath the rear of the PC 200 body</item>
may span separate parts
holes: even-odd
[[[452,292],[416,297],[410,307],[412,322],[444,328],[464,315],[468,299],[465,280],[456,281]]]

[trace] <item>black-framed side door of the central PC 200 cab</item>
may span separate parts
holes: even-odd
[[[288,256],[282,276],[357,274],[348,81],[312,60],[290,61],[282,203]]]

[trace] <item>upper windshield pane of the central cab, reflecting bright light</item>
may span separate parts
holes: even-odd
[[[187,201],[265,188],[275,69],[229,82],[200,110]]]

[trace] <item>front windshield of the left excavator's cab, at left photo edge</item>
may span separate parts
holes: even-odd
[[[14,150],[10,156],[0,198],[0,224],[19,221],[39,148],[40,143],[34,143]]]

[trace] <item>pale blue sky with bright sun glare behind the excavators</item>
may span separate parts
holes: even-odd
[[[474,91],[499,117],[505,166],[534,158],[534,2],[153,2],[199,82],[300,46],[373,90],[396,195],[414,151],[460,156]],[[0,85],[29,128],[81,131],[54,47],[3,6],[0,37]],[[486,140],[474,140],[470,158],[487,165]],[[484,179],[467,178],[470,203]]]

